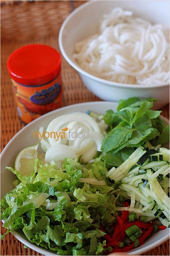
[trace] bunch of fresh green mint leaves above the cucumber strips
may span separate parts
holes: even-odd
[[[124,148],[139,147],[150,141],[153,146],[169,142],[169,126],[160,118],[161,111],[152,110],[152,98],[119,100],[117,111],[108,110],[103,117],[109,125],[101,149],[110,165],[122,161]],[[112,158],[110,157],[112,156]],[[122,163],[122,162],[121,162]],[[120,165],[120,164],[119,164]]]

